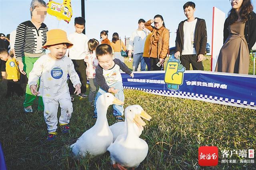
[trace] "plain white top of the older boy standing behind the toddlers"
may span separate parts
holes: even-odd
[[[68,40],[73,46],[67,50],[66,55],[72,60],[83,60],[88,54],[88,37],[83,33],[71,33],[68,35]]]

